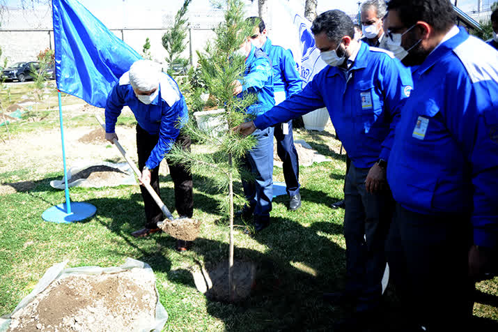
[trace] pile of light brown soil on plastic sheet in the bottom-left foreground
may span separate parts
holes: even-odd
[[[68,275],[14,313],[7,331],[141,331],[155,320],[155,280],[132,269]]]

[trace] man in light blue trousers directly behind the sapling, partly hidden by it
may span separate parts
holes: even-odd
[[[265,52],[251,44],[249,37],[242,43],[239,54],[246,57],[246,71],[242,80],[233,82],[233,95],[244,98],[244,93],[256,93],[258,100],[246,112],[253,116],[264,114],[275,105],[272,63]],[[273,128],[256,130],[253,135],[257,144],[242,160],[242,167],[254,175],[254,181],[242,179],[244,196],[249,202],[242,209],[242,216],[254,215],[254,229],[259,232],[270,224],[272,211]]]

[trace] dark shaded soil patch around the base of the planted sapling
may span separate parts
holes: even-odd
[[[212,287],[208,289],[205,295],[208,299],[215,301],[243,301],[251,295],[251,289],[256,285],[256,265],[251,262],[233,262],[232,280],[235,285],[235,292],[231,298],[228,294],[228,261],[221,262],[208,273]]]

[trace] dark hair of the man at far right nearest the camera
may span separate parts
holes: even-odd
[[[448,31],[456,21],[456,13],[449,0],[391,0],[387,3],[387,10],[397,10],[406,27],[423,21],[437,32]]]

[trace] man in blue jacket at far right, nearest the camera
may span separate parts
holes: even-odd
[[[466,324],[498,245],[498,52],[456,27],[449,0],[387,6],[389,38],[414,68],[387,167],[391,276],[414,324],[482,331]]]

